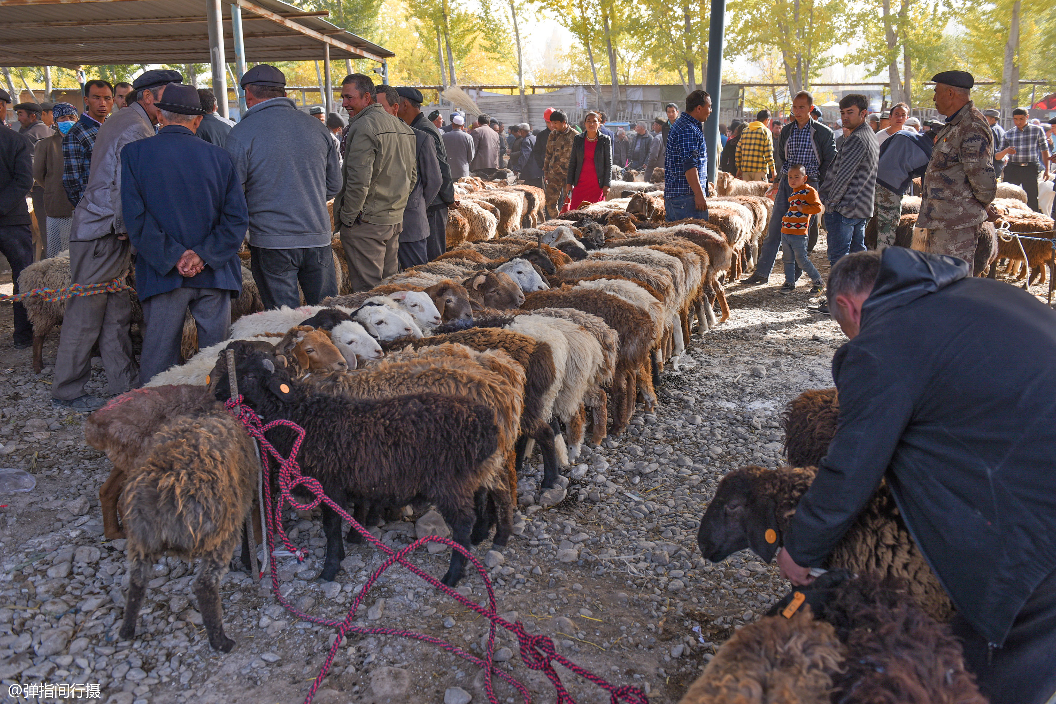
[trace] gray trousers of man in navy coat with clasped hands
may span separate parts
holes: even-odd
[[[175,288],[143,302],[147,329],[143,334],[139,383],[181,361],[187,310],[197,327],[199,349],[223,342],[231,326],[231,291],[222,288]]]

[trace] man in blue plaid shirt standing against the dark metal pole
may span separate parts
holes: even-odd
[[[685,96],[683,112],[667,133],[664,154],[663,202],[668,223],[696,217],[708,220],[708,147],[703,123],[712,114],[712,98],[704,91]]]

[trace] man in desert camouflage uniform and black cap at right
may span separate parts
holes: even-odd
[[[994,134],[969,97],[970,74],[944,71],[931,80],[946,126],[924,174],[917,227],[927,230],[924,251],[958,256],[972,267],[979,224],[996,216],[991,208],[997,190]]]

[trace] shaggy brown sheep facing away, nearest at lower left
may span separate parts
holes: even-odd
[[[213,650],[230,652],[220,581],[252,506],[260,463],[245,429],[226,411],[173,419],[129,473],[120,508],[128,533],[129,591],[119,636],[135,635],[151,566],[166,553],[202,559],[193,590]]]

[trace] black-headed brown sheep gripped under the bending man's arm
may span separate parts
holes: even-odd
[[[816,471],[813,467],[743,467],[728,473],[700,519],[697,544],[701,554],[717,563],[751,548],[769,563]],[[824,567],[904,577],[913,600],[928,615],[941,622],[953,616],[949,596],[909,535],[886,483],[878,488]]]

